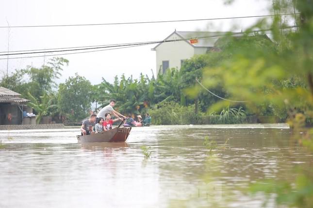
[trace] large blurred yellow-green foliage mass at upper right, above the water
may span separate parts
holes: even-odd
[[[305,8],[305,23],[298,31],[281,30],[287,25],[281,16],[275,16],[270,25],[260,21],[246,31],[242,37],[221,38],[216,47],[218,52],[208,54],[211,64],[202,75],[202,83],[208,88],[222,85],[231,100],[247,100],[248,111],[257,115],[276,115],[297,125],[296,115],[305,118],[302,125],[312,124],[312,15],[308,8],[311,1],[274,1],[276,11],[292,10],[301,12]],[[301,13],[303,18],[304,13]],[[291,17],[292,18],[292,17]],[[286,21],[286,20],[285,20]],[[289,20],[291,22],[298,22]],[[250,33],[251,30],[271,28],[272,40],[264,32]],[[311,35],[309,35],[311,33]],[[219,63],[214,63],[218,60]],[[240,81],[239,81],[240,80]],[[219,101],[209,111],[219,111],[229,105]]]

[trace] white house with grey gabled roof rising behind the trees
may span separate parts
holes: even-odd
[[[190,59],[196,54],[207,53],[208,50],[214,47],[214,43],[220,36],[225,33],[226,32],[175,30],[165,38],[165,42],[151,49],[156,51],[157,74],[159,72],[165,73],[168,68],[180,69],[183,60]]]

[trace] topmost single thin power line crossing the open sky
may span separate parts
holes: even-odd
[[[183,20],[165,20],[165,21],[146,21],[146,22],[117,22],[117,23],[99,23],[99,24],[0,26],[0,28],[44,28],[44,27],[99,26],[99,25],[130,25],[130,24],[166,23],[166,22],[191,22],[191,21],[221,20],[221,19],[241,19],[241,18],[253,18],[253,17],[299,15],[299,14],[300,13],[296,13],[296,14],[293,13],[293,14],[275,14],[275,15],[220,17],[220,18],[206,18],[206,19],[183,19]]]

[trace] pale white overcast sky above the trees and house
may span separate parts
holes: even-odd
[[[147,22],[268,15],[271,0],[1,0],[0,26],[70,25],[122,22]],[[164,40],[178,31],[240,31],[258,18],[174,23],[105,25],[81,27],[0,28],[0,52],[31,49],[125,44]],[[235,28],[234,25],[237,27]],[[155,45],[138,46],[94,53],[63,55],[69,60],[64,67],[64,82],[78,73],[92,84],[102,77],[112,82],[115,75],[156,74]],[[36,56],[42,54],[36,54]],[[47,53],[48,55],[48,53]],[[30,56],[30,55],[27,55]],[[6,58],[0,56],[0,58]],[[9,59],[8,71],[40,67],[51,57]],[[6,73],[7,60],[0,60],[0,75]]]

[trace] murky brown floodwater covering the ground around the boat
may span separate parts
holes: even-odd
[[[0,208],[257,208],[249,183],[313,161],[285,124],[137,127],[127,143],[88,145],[78,133],[0,131]]]

